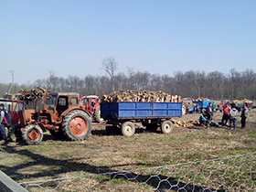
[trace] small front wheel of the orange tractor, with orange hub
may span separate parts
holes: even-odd
[[[22,132],[22,139],[27,144],[39,144],[43,139],[43,131],[37,124],[29,124]]]

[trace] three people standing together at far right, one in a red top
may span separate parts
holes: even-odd
[[[243,103],[241,108],[241,114],[240,114],[240,109],[238,109],[237,104],[235,103],[230,104],[229,102],[227,102],[223,107],[221,124],[228,126],[228,122],[229,122],[229,129],[231,127],[235,129],[237,127],[238,118],[240,114],[240,123],[241,123],[240,128],[243,129],[245,128],[248,112],[249,112],[249,109],[247,107],[247,103]]]

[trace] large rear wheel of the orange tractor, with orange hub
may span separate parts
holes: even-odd
[[[86,112],[71,111],[63,120],[62,130],[69,140],[84,140],[91,133],[91,118]]]

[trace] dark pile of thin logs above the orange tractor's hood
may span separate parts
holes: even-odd
[[[35,99],[41,99],[44,95],[48,95],[50,91],[48,89],[37,87],[37,89],[31,89],[31,90],[20,90],[18,91],[18,100],[22,101],[32,101]]]

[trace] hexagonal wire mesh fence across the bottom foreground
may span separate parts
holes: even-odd
[[[256,153],[19,183],[28,191],[256,191]]]

